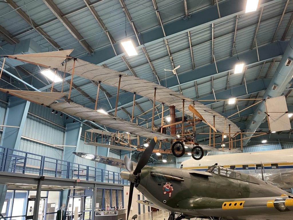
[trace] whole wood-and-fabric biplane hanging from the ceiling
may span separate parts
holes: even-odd
[[[3,66],[6,58],[15,59],[23,62],[32,63],[42,67],[50,68],[55,71],[62,71],[65,73],[71,74],[71,84],[69,87],[69,93],[67,99],[64,99],[67,93],[62,92],[52,92],[54,87],[54,82],[52,83],[51,92],[35,92],[35,91],[20,91],[20,90],[11,90],[11,89],[0,89],[2,92],[9,93],[11,95],[26,99],[28,101],[35,102],[40,105],[47,106],[49,108],[55,109],[57,111],[62,111],[66,114],[76,116],[88,121],[96,122],[98,124],[114,128],[117,130],[122,130],[134,134],[137,136],[145,138],[154,138],[157,137],[158,140],[171,143],[170,149],[155,149],[154,153],[173,153],[173,155],[180,157],[185,153],[185,147],[190,146],[191,154],[194,159],[201,159],[204,155],[203,148],[206,150],[223,150],[218,148],[213,148],[210,145],[199,145],[196,143],[195,139],[195,125],[196,123],[203,122],[210,126],[213,132],[220,131],[223,134],[226,134],[229,138],[235,137],[241,131],[240,129],[229,119],[219,115],[217,112],[213,111],[209,107],[201,104],[198,101],[193,101],[188,97],[185,97],[171,89],[160,86],[153,82],[149,82],[145,79],[140,79],[138,77],[127,75],[122,72],[117,72],[102,66],[98,66],[84,60],[79,60],[74,57],[69,57],[70,53],[73,50],[62,50],[55,52],[47,53],[35,53],[35,54],[21,54],[21,55],[5,55]],[[2,68],[3,68],[2,66]],[[2,74],[2,69],[1,69]],[[1,77],[0,74],[0,77]],[[98,82],[98,91],[96,97],[95,109],[89,109],[79,104],[76,104],[70,101],[71,87],[73,76],[84,77],[93,81]],[[63,77],[64,81],[64,77]],[[113,87],[117,87],[117,99],[115,106],[114,116],[101,113],[96,111],[98,94],[100,83],[104,83]],[[62,87],[63,88],[63,87]],[[162,104],[162,124],[161,131],[157,132],[154,130],[154,107],[153,107],[153,116],[152,116],[152,126],[151,129],[138,126],[133,123],[133,114],[134,114],[134,103],[132,110],[132,119],[130,122],[127,122],[123,119],[116,117],[117,104],[119,97],[119,90],[123,89],[125,91],[132,92],[135,94],[147,97],[155,102],[160,102]],[[170,108],[170,117],[171,121],[169,125],[163,125],[163,106],[167,105]],[[175,109],[182,112],[182,120],[176,122]],[[186,120],[186,116],[190,116],[191,120]],[[181,130],[176,131],[176,124],[181,124]],[[185,123],[189,123],[192,126],[191,131],[185,132]],[[170,127],[170,135],[163,132],[164,128]],[[223,138],[222,138],[223,140]],[[125,143],[125,138],[118,137],[118,141],[121,147],[127,147],[128,150],[131,150],[133,147],[130,142],[128,145],[123,145]],[[184,142],[186,146],[184,146]],[[160,142],[161,143],[161,142]],[[229,142],[230,143],[230,142]],[[107,143],[108,145],[108,143]],[[137,150],[144,151],[145,148],[140,148],[139,143],[137,143]],[[215,147],[215,146],[214,146]]]

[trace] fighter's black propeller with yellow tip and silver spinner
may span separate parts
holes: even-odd
[[[124,180],[130,181],[129,199],[128,199],[128,207],[127,207],[127,220],[128,220],[129,212],[131,208],[134,186],[137,187],[139,185],[139,181],[140,181],[139,173],[141,172],[142,168],[145,165],[147,165],[147,162],[149,161],[149,158],[151,154],[153,153],[156,143],[157,143],[157,138],[154,137],[154,139],[151,140],[151,142],[149,143],[148,148],[144,150],[144,153],[142,154],[142,157],[138,161],[137,166],[135,167],[135,170],[133,170],[133,165],[130,158],[127,155],[125,155],[124,157],[125,167],[128,171],[122,171],[120,173],[120,177]]]

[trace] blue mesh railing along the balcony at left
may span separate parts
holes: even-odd
[[[0,171],[128,185],[119,173],[0,147]]]

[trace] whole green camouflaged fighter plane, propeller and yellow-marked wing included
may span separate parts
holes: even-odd
[[[149,199],[144,204],[170,211],[168,220],[293,218],[292,194],[248,174],[217,165],[205,172],[146,166],[155,145],[156,138],[134,170],[130,158],[125,155],[124,165],[128,171],[122,171],[120,176],[131,182],[127,219],[134,187]]]

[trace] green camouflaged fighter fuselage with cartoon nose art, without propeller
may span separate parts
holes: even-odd
[[[262,203],[265,206],[269,201],[267,197],[288,195],[288,192],[255,177],[218,166],[210,172],[144,167],[137,189],[157,206],[189,216],[225,216],[227,209],[231,215],[232,209],[243,212],[243,205],[252,206],[251,211],[257,211],[253,206],[255,201],[249,201],[249,198],[264,197]],[[280,212],[276,208],[270,211],[272,214]],[[227,219],[245,219],[229,215]]]

